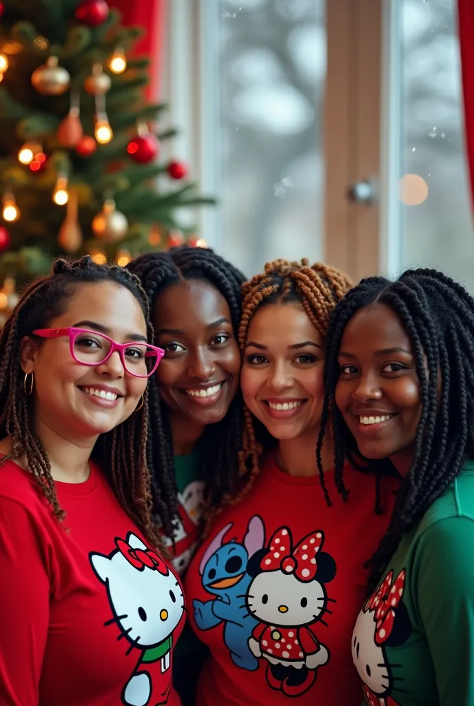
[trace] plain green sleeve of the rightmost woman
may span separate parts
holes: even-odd
[[[474,521],[450,517],[428,527],[416,551],[413,580],[439,706],[472,706]]]

